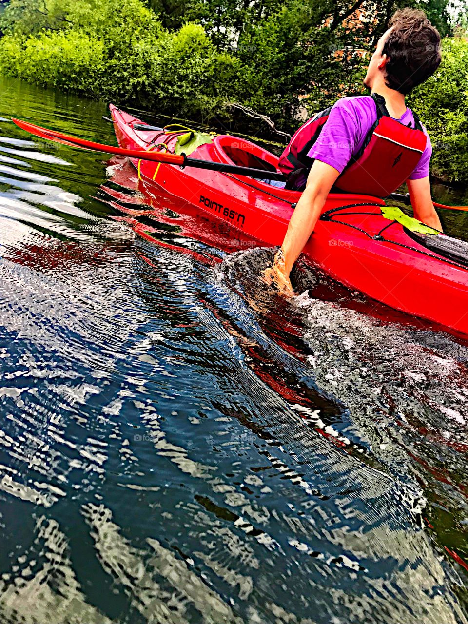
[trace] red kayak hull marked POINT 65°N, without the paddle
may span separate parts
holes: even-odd
[[[177,136],[135,130],[141,124],[110,105],[117,141],[125,149],[173,151]],[[165,150],[165,148],[162,148]],[[245,139],[218,135],[191,158],[275,170],[278,158]],[[245,162],[245,158],[254,158]],[[243,175],[183,168],[131,158],[140,179],[249,235],[281,245],[300,193]],[[334,280],[412,316],[468,334],[468,270],[429,252],[396,222],[384,218],[383,200],[330,193],[303,253]],[[383,232],[384,230],[384,232]],[[417,324],[417,319],[413,319]]]

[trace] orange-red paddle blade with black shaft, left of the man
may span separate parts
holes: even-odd
[[[118,154],[130,158],[139,158],[139,160],[153,160],[155,162],[163,162],[169,165],[179,165],[184,167],[198,167],[200,169],[209,169],[211,171],[220,171],[223,173],[237,173],[238,175],[248,175],[251,178],[260,178],[262,180],[285,180],[283,173],[267,171],[266,169],[254,169],[250,167],[239,167],[238,165],[229,165],[222,162],[212,162],[210,160],[197,160],[197,158],[188,158],[185,154],[163,154],[162,152],[146,152],[145,150],[127,150],[124,147],[113,147],[102,143],[95,143],[86,139],[79,139],[72,135],[62,134],[56,130],[42,128],[39,125],[29,124],[21,119],[12,119],[22,130],[26,130],[30,134],[34,134],[41,139],[48,139],[64,145],[72,147],[80,147],[85,150],[95,152],[105,152],[106,154]]]

